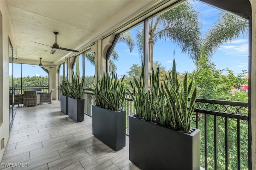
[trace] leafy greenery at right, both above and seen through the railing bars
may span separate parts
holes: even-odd
[[[227,71],[227,75],[223,72]],[[211,62],[206,52],[201,48],[201,54],[196,60],[196,69],[190,76],[193,76],[196,85],[198,87],[198,98],[206,99],[221,99],[230,101],[245,101],[248,102],[248,93],[236,92],[232,95],[231,89],[234,87],[240,87],[246,84],[247,71],[238,73],[237,76],[230,69],[219,70],[216,69],[216,65]],[[202,105],[201,105],[202,106]],[[202,106],[204,107],[204,106]],[[214,110],[216,106],[208,105],[208,109]],[[218,107],[220,109],[221,106]],[[234,109],[234,108],[233,108]],[[232,107],[228,108],[228,111],[232,112]],[[242,111],[242,110],[241,110]],[[243,114],[248,114],[245,109]],[[218,169],[225,169],[225,118],[217,118],[217,128],[214,128],[214,116],[207,115],[207,140],[208,140],[208,155],[204,160],[204,119],[205,114],[200,114],[199,129],[201,132],[201,159],[200,164],[204,167],[204,162],[208,162],[208,169],[214,169],[214,131],[217,130],[217,157],[218,157]],[[241,169],[246,170],[248,168],[248,122],[240,121],[240,138],[241,140]],[[193,125],[195,127],[195,125]],[[238,169],[236,164],[237,159],[237,120],[228,119],[228,169]]]

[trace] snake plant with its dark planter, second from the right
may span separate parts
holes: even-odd
[[[96,105],[92,106],[92,134],[114,150],[125,146],[126,110],[124,105],[126,91],[124,77],[118,79],[112,72],[97,75],[95,88]]]

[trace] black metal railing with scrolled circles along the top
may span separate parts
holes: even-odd
[[[94,90],[86,89],[85,113],[92,116]],[[133,101],[126,94],[126,132],[128,116],[135,113]],[[200,165],[205,169],[248,169],[250,155],[248,103],[212,99],[196,99],[192,127],[201,130]]]

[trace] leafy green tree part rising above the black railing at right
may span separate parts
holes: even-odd
[[[228,72],[228,75],[223,75],[224,71]],[[196,68],[190,77],[194,77],[196,81],[198,98],[234,100],[231,89],[234,87],[240,89],[247,84],[246,73],[248,72],[243,70],[242,73],[235,76],[234,71],[229,68],[216,69],[216,65],[211,62],[204,49],[201,48],[201,54],[196,59]]]

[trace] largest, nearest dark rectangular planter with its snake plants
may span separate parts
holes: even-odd
[[[178,82],[175,60],[163,83],[159,69],[152,68],[148,91],[144,79],[143,73],[134,78],[133,93],[129,91],[136,109],[129,116],[129,159],[141,169],[200,169],[200,130],[190,128],[196,101],[193,81],[188,85],[186,74]]]

